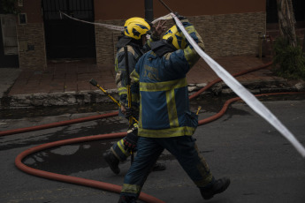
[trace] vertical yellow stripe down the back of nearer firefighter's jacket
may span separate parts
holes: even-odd
[[[172,89],[171,91],[166,91],[166,102],[171,127],[179,127],[174,89]]]

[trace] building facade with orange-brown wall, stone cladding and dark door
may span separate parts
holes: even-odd
[[[139,0],[17,2],[20,12],[15,25],[14,53],[18,55],[21,69],[45,70],[51,62],[83,58],[90,58],[97,65],[114,64],[119,31],[69,19],[59,11],[75,19],[115,26],[123,26],[126,19],[134,16],[145,17],[145,1]],[[212,57],[255,55],[258,49],[258,33],[266,32],[266,3],[269,2],[266,0],[164,2],[172,11],[178,11],[194,24],[202,35],[206,53]],[[153,13],[156,19],[169,11],[159,1],[153,1]],[[7,15],[2,15],[2,22],[4,16]],[[172,20],[168,20],[167,26],[172,25]],[[3,32],[2,38],[7,37],[6,35]],[[3,48],[7,46],[3,45]]]

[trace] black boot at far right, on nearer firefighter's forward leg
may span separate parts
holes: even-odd
[[[203,199],[211,199],[215,194],[224,192],[230,184],[230,179],[223,177],[221,179],[215,180],[215,182],[207,188],[201,188]]]

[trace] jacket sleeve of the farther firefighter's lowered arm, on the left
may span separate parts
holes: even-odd
[[[132,47],[127,46],[127,56],[128,56],[128,67],[129,73],[131,73],[134,69],[136,64],[135,59],[135,52]],[[124,48],[118,50],[116,61],[115,61],[115,70],[116,74],[116,84],[118,87],[118,96],[119,96],[119,103],[121,105],[126,106],[127,101],[127,76],[126,76],[126,60],[125,60],[125,51]],[[128,76],[129,77],[129,76]]]

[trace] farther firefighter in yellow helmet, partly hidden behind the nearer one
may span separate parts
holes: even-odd
[[[145,19],[137,17],[127,19],[124,27],[124,34],[117,43],[118,52],[115,58],[115,70],[117,72],[115,81],[118,86],[119,103],[121,104],[121,107],[118,109],[118,115],[128,119],[128,117],[133,114],[133,116],[138,119],[137,112],[139,109],[139,102],[137,101],[139,98],[136,95],[132,95],[133,109],[127,108],[126,79],[129,76],[126,76],[126,67],[129,67],[129,72],[132,72],[139,58],[150,49],[150,42],[158,41],[160,39],[160,34],[164,33],[166,28],[164,23],[159,21],[156,27],[153,26],[154,32],[151,34],[151,26],[149,23]],[[151,34],[149,41],[147,41],[147,34]],[[125,46],[127,47],[128,65],[126,65]],[[132,124],[130,127],[131,129],[128,130],[128,133],[137,135],[136,125]],[[126,139],[120,139],[110,150],[103,154],[104,160],[115,174],[120,172],[120,169],[118,168],[119,162],[126,161],[127,157],[132,153],[132,151],[127,150],[124,146],[125,140]],[[164,169],[165,166],[160,163],[157,163],[154,167],[154,170]]]

